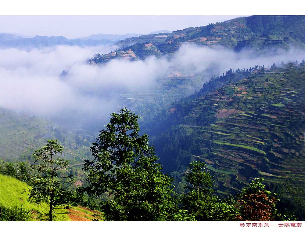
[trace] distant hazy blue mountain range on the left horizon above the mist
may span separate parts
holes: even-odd
[[[19,48],[30,50],[32,48],[44,48],[52,47],[56,45],[68,45],[68,46],[98,46],[98,45],[110,45],[115,43],[108,39],[67,39],[63,36],[39,36],[36,35],[33,38],[15,38],[11,35],[0,35],[0,48]]]

